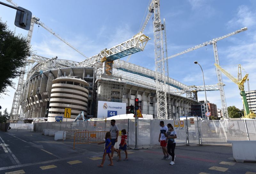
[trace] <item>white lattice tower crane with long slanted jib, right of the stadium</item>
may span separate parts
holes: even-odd
[[[176,56],[181,55],[181,54],[188,53],[188,52],[193,51],[197,48],[204,47],[206,45],[212,45],[213,46],[215,63],[219,65],[220,63],[219,63],[219,56],[218,56],[218,50],[217,50],[217,41],[225,39],[229,36],[232,36],[234,34],[237,34],[237,33],[240,33],[240,32],[246,31],[246,30],[247,30],[247,27],[241,28],[240,30],[236,30],[235,32],[232,32],[232,33],[226,34],[224,36],[209,40],[209,41],[204,42],[202,44],[196,45],[195,47],[188,48],[185,51],[182,51],[180,53],[169,56],[168,59],[171,59],[171,58],[176,57]],[[224,84],[222,82],[222,76],[221,76],[221,72],[220,72],[219,69],[217,69],[216,74],[217,74],[217,77],[218,77],[218,85],[219,85],[219,89],[220,89],[220,99],[221,99],[223,117],[228,118],[228,109],[227,109],[227,104],[226,104],[224,88],[223,88]]]

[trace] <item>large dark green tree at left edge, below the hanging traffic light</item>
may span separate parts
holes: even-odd
[[[20,76],[20,68],[32,54],[30,48],[25,37],[15,35],[0,19],[0,95],[7,92],[8,86],[14,88],[12,79]]]

